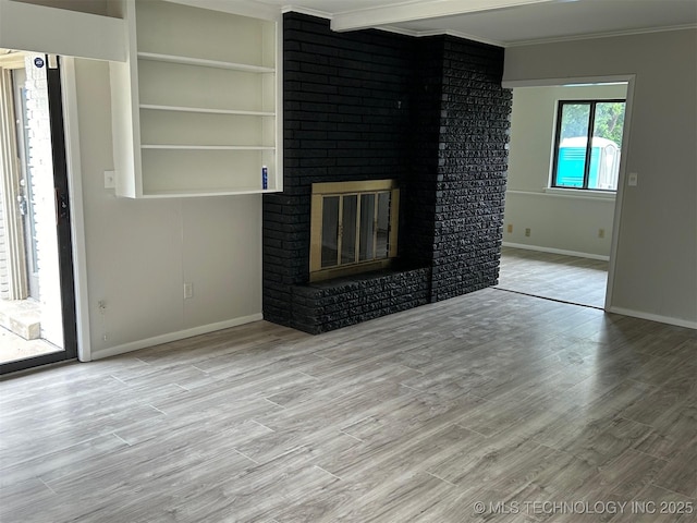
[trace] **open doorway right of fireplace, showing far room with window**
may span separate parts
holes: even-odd
[[[513,110],[498,288],[607,308],[632,78],[508,87]]]

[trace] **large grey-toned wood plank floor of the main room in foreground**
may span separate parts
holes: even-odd
[[[0,381],[0,475],[3,523],[693,522],[697,331],[497,289],[260,321]]]

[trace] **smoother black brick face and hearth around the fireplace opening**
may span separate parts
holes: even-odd
[[[284,191],[264,197],[265,318],[321,332],[427,303],[429,276],[411,271],[406,257],[399,275],[375,283],[379,291],[352,281],[307,285],[311,184],[407,185],[414,39],[333,33],[328,21],[295,13],[283,22]]]

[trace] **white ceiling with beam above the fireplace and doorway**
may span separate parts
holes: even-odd
[[[697,0],[257,0],[415,36],[450,34],[502,47],[697,27]]]

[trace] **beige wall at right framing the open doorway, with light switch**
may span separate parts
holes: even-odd
[[[503,77],[632,74],[611,308],[697,327],[697,31],[509,48]]]

